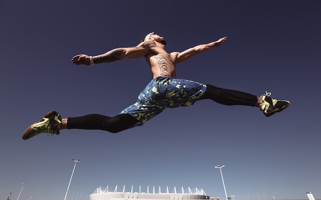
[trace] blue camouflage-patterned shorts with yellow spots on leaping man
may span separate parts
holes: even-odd
[[[139,94],[137,102],[125,108],[120,114],[130,114],[138,120],[134,126],[141,126],[162,113],[165,108],[193,105],[205,91],[206,84],[158,76]]]

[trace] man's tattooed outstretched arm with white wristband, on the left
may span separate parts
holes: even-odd
[[[114,62],[125,58],[144,57],[147,53],[149,53],[149,50],[144,46],[117,48],[102,55],[92,56],[92,61],[94,64],[104,63],[104,62]],[[85,54],[76,55],[71,59],[71,61],[72,63],[75,63],[75,64],[90,65],[90,56]]]

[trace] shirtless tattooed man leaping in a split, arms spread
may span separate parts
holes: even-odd
[[[202,99],[225,105],[248,105],[259,107],[267,117],[282,111],[290,105],[289,101],[275,100],[269,94],[257,97],[244,92],[218,88],[210,84],[177,79],[175,66],[192,56],[209,51],[221,45],[227,37],[204,45],[198,45],[183,52],[167,53],[166,41],[154,32],[148,34],[136,47],[116,48],[97,56],[76,55],[72,58],[75,64],[93,65],[113,62],[125,58],[145,57],[150,65],[153,79],[139,94],[137,102],[125,108],[119,115],[108,117],[90,114],[81,117],[62,117],[52,110],[42,120],[30,125],[22,138],[27,140],[43,132],[48,135],[59,134],[62,129],[101,129],[119,132],[134,126],[141,126],[146,121],[161,113],[165,108],[191,106]]]

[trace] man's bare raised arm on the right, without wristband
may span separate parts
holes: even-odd
[[[172,53],[176,57],[175,63],[184,62],[196,54],[209,51],[209,50],[213,49],[214,47],[218,47],[226,39],[227,39],[227,37],[222,37],[222,38],[218,39],[217,41],[213,41],[213,42],[210,42],[210,43],[204,44],[204,45],[197,45],[193,48],[190,48],[190,49],[185,50],[180,53],[179,52],[175,52],[176,54]]]

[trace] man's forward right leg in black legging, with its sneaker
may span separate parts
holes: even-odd
[[[275,100],[268,95],[257,97],[240,91],[215,87],[210,84],[206,84],[206,86],[206,91],[200,99],[211,99],[224,105],[256,106],[259,107],[267,117],[284,110],[290,105],[289,101]]]

